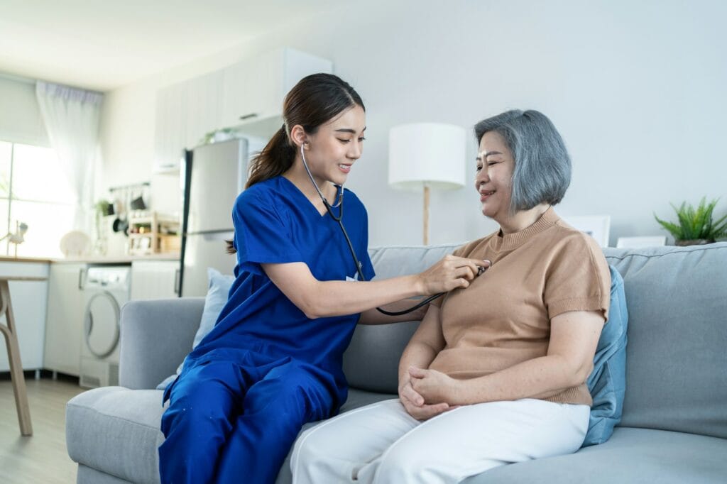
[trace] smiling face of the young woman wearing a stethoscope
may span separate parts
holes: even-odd
[[[353,106],[308,134],[305,161],[316,182],[343,185],[353,163],[364,150],[366,113],[361,106]]]

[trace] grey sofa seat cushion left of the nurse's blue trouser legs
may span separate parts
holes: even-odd
[[[65,409],[73,461],[134,483],[158,483],[161,390],[101,387],[76,395]]]

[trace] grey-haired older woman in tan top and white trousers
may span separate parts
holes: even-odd
[[[294,483],[456,483],[581,446],[608,316],[606,259],[553,211],[571,162],[546,116],[507,111],[475,135],[475,190],[500,229],[454,254],[491,267],[430,305],[401,357],[397,400],[297,440]]]

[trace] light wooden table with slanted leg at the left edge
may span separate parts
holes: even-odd
[[[0,276],[0,316],[5,315],[6,324],[0,323],[0,331],[5,336],[7,345],[7,359],[10,363],[10,379],[12,391],[15,393],[15,407],[17,408],[17,421],[20,424],[20,434],[33,435],[31,424],[31,409],[28,407],[28,393],[25,390],[25,375],[23,363],[20,363],[20,347],[17,344],[15,329],[15,316],[12,314],[10,304],[10,289],[8,281],[46,281],[47,278],[25,276]]]

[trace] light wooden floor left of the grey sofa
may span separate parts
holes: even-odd
[[[0,483],[72,484],[76,463],[65,449],[65,403],[83,392],[78,380],[26,377],[33,435],[22,437],[12,383],[0,380]]]

